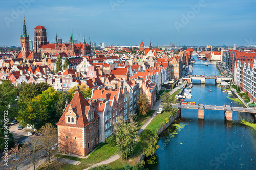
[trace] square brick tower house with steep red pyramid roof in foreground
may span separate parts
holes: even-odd
[[[79,88],[63,111],[58,127],[59,152],[85,156],[98,144],[99,116],[92,102],[84,99]]]

